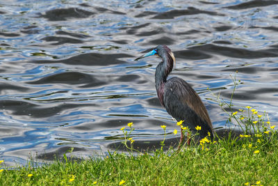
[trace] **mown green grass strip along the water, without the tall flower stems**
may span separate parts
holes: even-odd
[[[256,137],[254,137],[255,139]],[[264,141],[265,137],[259,137]],[[34,169],[3,170],[1,185],[277,185],[278,140],[256,144],[253,137],[238,141],[157,150],[154,155],[115,153],[104,160],[54,162]],[[252,144],[252,147],[249,145]],[[245,146],[244,146],[245,145]],[[259,153],[256,151],[259,150]],[[28,177],[28,174],[30,177]]]

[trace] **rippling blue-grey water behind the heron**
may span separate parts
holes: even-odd
[[[106,155],[133,122],[136,146],[159,146],[178,129],[156,98],[156,45],[177,59],[171,76],[199,93],[213,126],[234,104],[278,121],[277,1],[1,1],[0,159],[6,165]],[[173,134],[167,143],[177,142]]]

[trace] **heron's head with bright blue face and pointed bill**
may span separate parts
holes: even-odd
[[[174,64],[176,63],[176,59],[174,58],[173,52],[166,45],[158,45],[157,47],[152,49],[147,54],[144,54],[144,55],[136,58],[135,60],[142,59],[142,58],[145,58],[147,56],[154,56],[154,55],[160,56],[162,59],[164,59],[164,58],[172,59],[173,63]]]

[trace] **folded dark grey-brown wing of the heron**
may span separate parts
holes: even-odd
[[[199,95],[183,79],[178,77],[168,79],[164,86],[163,97],[165,109],[177,120],[184,120],[191,127],[202,125],[208,131],[213,129],[211,119]]]

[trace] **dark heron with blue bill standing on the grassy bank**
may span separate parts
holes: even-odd
[[[161,105],[165,107],[167,113],[176,122],[183,121],[182,125],[187,126],[194,134],[198,132],[200,138],[207,136],[213,137],[214,131],[211,118],[208,116],[208,111],[201,98],[199,98],[199,95],[183,79],[179,77],[167,79],[170,72],[172,72],[173,65],[176,63],[174,54],[169,47],[166,45],[158,45],[147,54],[135,60],[138,61],[139,59],[154,55],[162,59],[156,66],[155,72],[156,93]],[[200,128],[201,130],[199,130]],[[179,146],[181,146],[184,139],[183,129],[181,128]],[[187,142],[190,145],[189,138]]]

